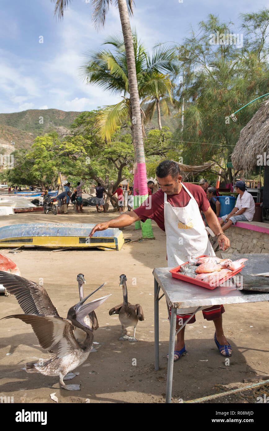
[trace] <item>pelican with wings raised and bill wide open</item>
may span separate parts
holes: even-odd
[[[25,312],[25,314],[6,316],[3,319],[20,319],[31,325],[41,347],[50,353],[50,359],[43,363],[27,363],[26,371],[59,376],[60,384],[64,389],[79,390],[80,385],[66,385],[63,379],[67,373],[88,358],[94,335],[85,317],[110,295],[84,304],[92,295],[89,294],[72,306],[67,313],[67,318],[64,319],[59,316],[43,286],[3,271],[0,271],[0,284],[3,284],[10,294],[15,295]]]

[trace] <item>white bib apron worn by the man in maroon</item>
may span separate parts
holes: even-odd
[[[184,184],[182,187],[191,197],[187,206],[170,205],[167,202],[167,194],[164,194],[167,261],[168,266],[172,268],[188,262],[188,256],[197,257],[202,254],[216,256],[207,236],[199,206]],[[205,308],[208,307],[202,309]],[[181,308],[177,310],[177,314],[189,314],[196,309],[197,307]]]

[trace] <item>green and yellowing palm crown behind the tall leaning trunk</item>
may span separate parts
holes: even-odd
[[[143,116],[146,122],[149,121],[157,106],[159,127],[160,124],[160,104],[169,114],[168,101],[172,102],[172,82],[168,75],[160,72],[175,73],[177,70],[178,58],[174,51],[160,49],[153,52],[152,56],[145,50],[135,31],[133,31],[134,57],[136,75],[138,81],[138,93],[142,103],[149,103]],[[119,35],[110,36],[104,41],[103,45],[108,45],[105,50],[93,52],[87,51],[84,54],[85,63],[81,68],[81,77],[87,83],[97,84],[104,90],[113,94],[122,95],[122,100],[115,105],[105,106],[97,116],[97,128],[102,139],[110,140],[116,128],[122,121],[133,117],[131,109],[131,99],[128,87],[128,70],[125,55],[124,40]],[[109,50],[113,47],[113,52]],[[156,103],[154,103],[156,99]],[[133,125],[131,124],[131,129]],[[134,137],[133,137],[134,140]]]

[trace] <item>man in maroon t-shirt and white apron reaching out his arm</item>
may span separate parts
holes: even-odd
[[[94,232],[103,231],[107,228],[122,228],[131,225],[137,220],[144,222],[146,219],[152,219],[163,231],[166,231],[167,258],[168,264],[170,263],[169,266],[171,266],[171,262],[175,262],[178,256],[179,259],[184,259],[187,250],[188,253],[189,250],[194,250],[192,256],[200,256],[201,254],[214,255],[201,218],[201,211],[203,211],[208,225],[217,235],[219,246],[222,250],[226,250],[230,246],[230,241],[223,234],[219,220],[210,207],[206,194],[198,185],[181,183],[182,177],[176,162],[172,160],[161,162],[156,169],[156,177],[160,189],[148,197],[145,203],[134,209],[134,211],[122,214],[116,219],[99,223],[94,226],[89,236],[92,237]],[[183,238],[180,246],[177,242],[178,237]],[[171,244],[173,245],[172,248]],[[195,251],[195,244],[197,244],[197,251]],[[198,250],[201,251],[202,249],[208,250],[207,253],[198,253]],[[213,253],[210,253],[210,250]],[[183,262],[187,260],[183,260]],[[182,315],[177,316],[177,329],[180,327],[179,322],[182,324],[189,317],[188,312],[183,313],[184,310],[182,309]],[[223,356],[231,356],[231,346],[228,344],[222,329],[222,313],[224,311],[222,305],[217,305],[203,309],[203,316],[204,319],[213,320],[214,322],[219,352]],[[188,323],[194,321],[195,316]],[[184,331],[185,326],[178,332],[174,360],[178,360],[185,353]]]

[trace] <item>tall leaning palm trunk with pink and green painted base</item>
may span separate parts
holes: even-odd
[[[128,70],[128,83],[129,93],[131,99],[131,110],[132,110],[132,129],[135,142],[135,153],[137,167],[138,167],[138,188],[139,194],[144,197],[148,196],[147,193],[147,172],[144,154],[144,141],[142,133],[142,120],[138,94],[138,84],[136,78],[136,68],[134,59],[134,44],[131,32],[131,25],[128,16],[128,9],[126,0],[117,0],[119,6],[119,16],[122,25],[122,33],[125,44],[125,53]],[[143,199],[143,200],[144,200]],[[142,223],[142,236],[153,237],[153,231],[151,227],[151,221],[148,219],[145,223]]]

